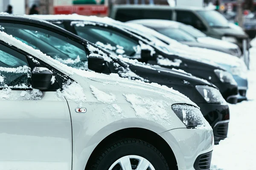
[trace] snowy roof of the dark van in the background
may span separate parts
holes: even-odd
[[[208,8],[195,7],[195,6],[166,6],[166,5],[114,5],[113,8],[120,9],[179,9],[179,10],[188,10],[188,11],[209,11]]]

